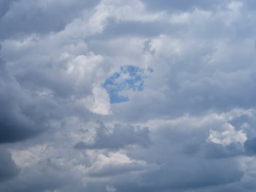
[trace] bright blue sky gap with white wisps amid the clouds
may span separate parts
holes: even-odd
[[[147,69],[153,72],[153,69]],[[114,73],[105,80],[102,87],[110,95],[111,103],[127,102],[128,96],[120,95],[124,90],[142,91],[144,87],[145,70],[136,66],[122,66],[119,72]]]

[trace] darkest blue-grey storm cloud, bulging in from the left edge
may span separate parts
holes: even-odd
[[[2,58],[0,87],[0,143],[24,140],[47,128],[44,122],[47,114],[43,109],[47,102],[36,100],[29,91],[20,87]]]

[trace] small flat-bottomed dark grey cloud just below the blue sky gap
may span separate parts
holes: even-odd
[[[151,144],[150,131],[148,127],[137,127],[132,125],[115,124],[111,133],[108,133],[108,128],[101,123],[101,126],[96,128],[96,135],[92,144],[78,142],[74,148],[77,149],[101,149],[110,148],[118,149],[125,145],[137,144],[147,147]]]

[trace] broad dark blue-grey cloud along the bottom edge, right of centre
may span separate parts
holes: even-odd
[[[176,163],[182,164],[182,167],[177,167]],[[178,188],[200,190],[198,187],[240,181],[243,172],[236,166],[228,160],[219,162],[177,159],[177,162],[163,165],[160,170],[142,174],[139,182],[130,183],[129,186],[117,186],[117,189],[120,191],[168,191]]]

